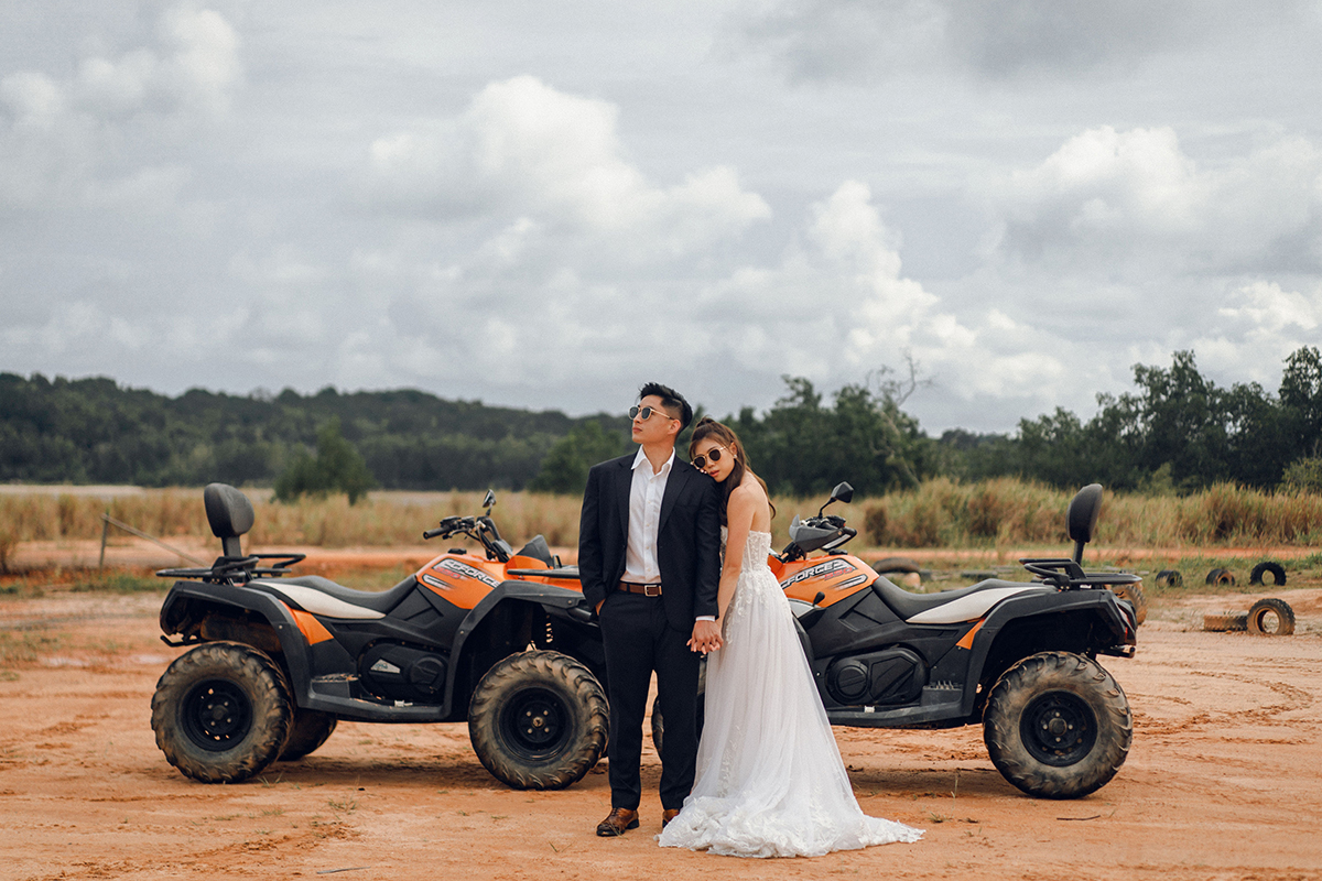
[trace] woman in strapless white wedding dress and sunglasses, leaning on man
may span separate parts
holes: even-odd
[[[767,567],[771,503],[738,437],[702,419],[689,454],[727,485],[723,645],[707,655],[693,793],[661,845],[780,857],[916,841],[921,829],[867,816],[854,799],[789,601]]]

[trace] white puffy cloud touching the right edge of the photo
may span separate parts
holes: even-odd
[[[1100,127],[993,201],[1001,254],[1059,272],[1240,272],[1280,250],[1322,268],[1322,151],[1301,137],[1199,166],[1170,128]]]

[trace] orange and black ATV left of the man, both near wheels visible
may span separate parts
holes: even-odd
[[[538,535],[517,553],[485,515],[448,516],[423,538],[467,535],[383,592],[287,577],[301,553],[249,553],[247,498],[204,491],[222,555],[161,606],[163,641],[193,646],[160,678],[152,729],[165,758],[205,783],[234,783],[325,742],[341,719],[468,721],[483,765],[516,789],[561,789],[600,758],[605,660],[578,571]],[[168,637],[176,637],[173,639]]]

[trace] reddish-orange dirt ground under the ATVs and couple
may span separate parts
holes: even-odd
[[[1257,596],[1151,597],[1138,655],[1104,659],[1133,705],[1134,744],[1099,793],[1019,794],[978,728],[837,728],[863,810],[927,833],[781,861],[657,848],[650,748],[642,827],[619,840],[594,835],[609,807],[604,763],[568,790],[513,791],[463,724],[342,722],[258,781],[192,782],[149,725],[178,652],[157,639],[161,597],[8,598],[0,646],[34,656],[0,670],[0,878],[1322,878],[1322,588],[1270,593],[1294,608],[1293,637],[1200,630],[1204,613]]]

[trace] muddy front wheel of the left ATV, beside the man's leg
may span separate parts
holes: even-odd
[[[517,790],[576,783],[602,758],[611,715],[602,684],[558,651],[524,651],[486,671],[468,707],[479,761]]]

